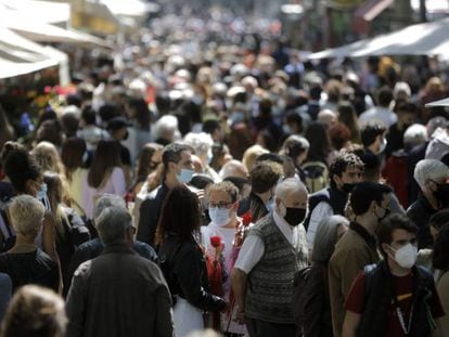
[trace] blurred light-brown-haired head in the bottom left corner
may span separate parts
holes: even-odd
[[[1,337],[65,336],[64,300],[54,291],[26,285],[15,293],[2,324]]]

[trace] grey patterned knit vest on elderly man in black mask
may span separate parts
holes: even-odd
[[[248,275],[245,314],[266,322],[294,323],[293,277],[307,265],[307,256],[290,244],[272,215],[260,219],[248,235],[260,237],[265,251]]]

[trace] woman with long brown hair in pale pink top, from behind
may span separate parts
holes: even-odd
[[[116,141],[100,141],[93,154],[92,164],[82,185],[81,206],[88,219],[92,218],[95,200],[105,193],[119,196],[126,193],[120,144]]]

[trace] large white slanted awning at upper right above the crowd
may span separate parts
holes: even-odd
[[[309,59],[440,55],[449,50],[449,17],[310,54]]]

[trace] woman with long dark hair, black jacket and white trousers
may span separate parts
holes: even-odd
[[[226,301],[209,291],[204,252],[195,236],[200,232],[200,200],[185,186],[170,191],[156,232],[161,268],[174,296],[175,335],[203,329],[204,311],[222,311]]]

